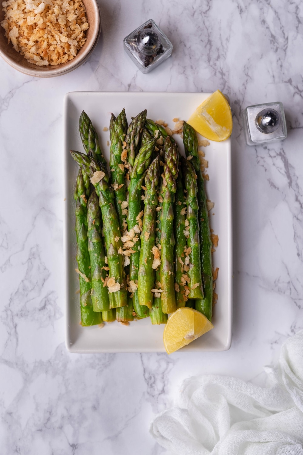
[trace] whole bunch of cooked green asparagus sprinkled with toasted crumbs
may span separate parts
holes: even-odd
[[[211,238],[198,141],[184,122],[182,157],[165,128],[146,119],[129,126],[124,109],[109,123],[110,175],[98,134],[83,111],[86,154],[75,187],[81,324],[150,316],[165,324],[177,308],[211,320]]]

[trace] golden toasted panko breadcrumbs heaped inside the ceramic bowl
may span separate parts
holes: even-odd
[[[89,24],[81,0],[7,0],[2,7],[8,44],[34,65],[66,63],[86,41]]]

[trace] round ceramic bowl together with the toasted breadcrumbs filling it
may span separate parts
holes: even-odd
[[[93,52],[101,30],[96,0],[0,0],[0,55],[24,74],[66,74]]]

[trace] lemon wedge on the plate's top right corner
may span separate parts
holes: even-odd
[[[228,139],[233,129],[233,118],[223,93],[217,90],[210,95],[197,107],[187,123],[210,141]]]

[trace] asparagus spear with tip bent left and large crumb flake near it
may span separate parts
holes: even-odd
[[[124,258],[122,253],[122,241],[120,235],[119,219],[114,206],[114,194],[109,186],[109,175],[106,167],[98,163],[93,157],[88,157],[80,152],[70,151],[74,160],[82,166],[84,172],[90,175],[90,181],[93,183],[97,196],[99,197],[99,205],[101,208],[102,219],[104,223],[104,235],[107,248],[107,258],[109,265],[109,277],[112,285],[109,285],[114,293],[114,303],[110,302],[111,306],[123,307],[127,304],[126,279],[124,272]],[[118,253],[119,251],[119,253]],[[115,291],[113,288],[118,288]]]

